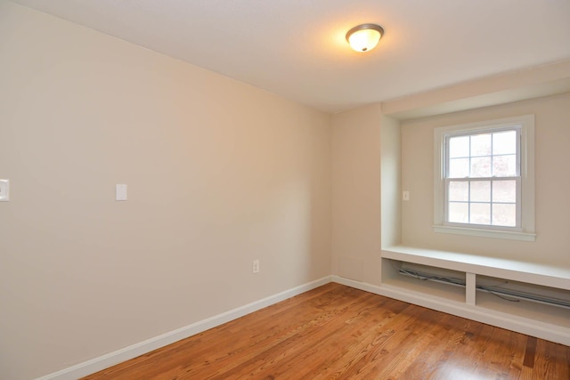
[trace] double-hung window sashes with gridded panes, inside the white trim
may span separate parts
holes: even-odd
[[[520,229],[519,125],[444,136],[444,223]]]

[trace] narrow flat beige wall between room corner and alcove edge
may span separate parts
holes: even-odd
[[[333,273],[379,285],[379,104],[332,117]]]

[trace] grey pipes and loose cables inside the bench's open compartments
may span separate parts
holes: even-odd
[[[414,263],[401,263],[399,267],[396,266],[396,269],[400,274],[413,277],[414,279],[465,287],[465,278],[461,277],[461,272]],[[555,287],[542,287],[524,282],[477,275],[476,289],[497,295],[507,301],[517,302],[525,300],[570,309],[570,292]]]

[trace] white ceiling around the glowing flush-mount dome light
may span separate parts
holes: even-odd
[[[12,1],[329,112],[570,59],[568,0]]]

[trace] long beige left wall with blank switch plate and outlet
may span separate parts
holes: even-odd
[[[0,57],[0,378],[330,275],[329,115],[1,0]]]

